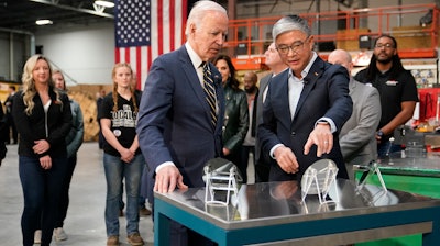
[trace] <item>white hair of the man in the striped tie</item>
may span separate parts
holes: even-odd
[[[201,0],[194,4],[191,11],[189,12],[188,20],[186,21],[185,35],[188,36],[190,30],[189,25],[191,23],[199,25],[207,11],[218,11],[228,15],[227,10],[219,3],[211,0]]]

